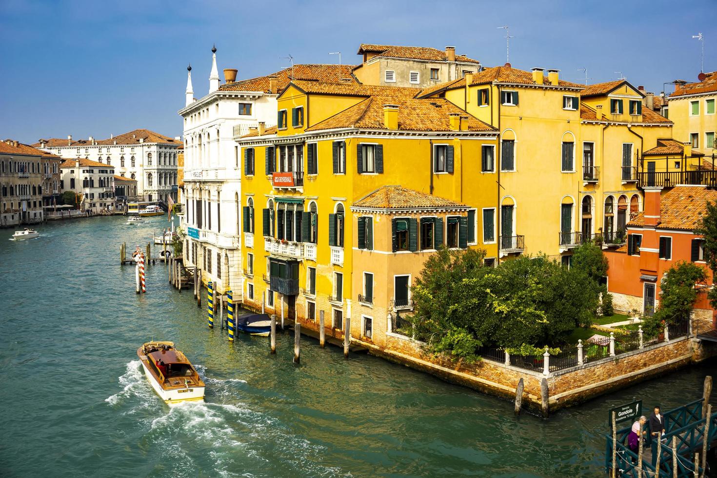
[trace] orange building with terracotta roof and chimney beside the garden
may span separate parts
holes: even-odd
[[[660,300],[660,282],[665,272],[680,261],[705,267],[701,225],[708,201],[717,201],[717,191],[706,186],[675,186],[663,193],[661,187],[645,186],[645,210],[627,224],[627,245],[605,251],[609,263],[608,283],[617,310],[651,315]],[[698,293],[694,307],[695,333],[716,327],[707,289]]]

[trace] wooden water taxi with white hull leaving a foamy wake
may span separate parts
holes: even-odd
[[[204,381],[172,342],[148,342],[137,349],[142,367],[165,403],[204,400]]]

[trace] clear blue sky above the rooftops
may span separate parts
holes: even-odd
[[[0,136],[108,138],[148,128],[181,135],[186,65],[206,95],[219,74],[265,75],[296,63],[359,62],[359,43],[442,49],[514,67],[558,68],[579,82],[663,82],[717,70],[717,2],[680,1],[38,1],[0,0]],[[668,85],[668,89],[672,86]]]

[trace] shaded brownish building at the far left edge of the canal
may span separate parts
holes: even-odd
[[[46,201],[60,193],[60,158],[15,140],[0,142],[0,226],[44,219]]]

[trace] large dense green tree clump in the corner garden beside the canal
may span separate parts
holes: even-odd
[[[484,252],[442,249],[412,288],[417,335],[435,353],[475,360],[481,346],[563,343],[592,320],[599,287],[580,269],[546,256],[483,266]]]

